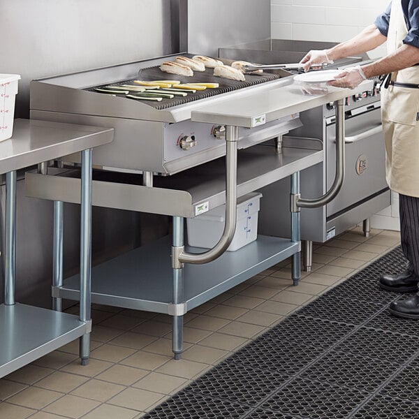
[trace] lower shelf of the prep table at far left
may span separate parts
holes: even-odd
[[[84,333],[87,333],[87,323],[80,321],[77,316],[25,304],[1,304],[0,377]]]

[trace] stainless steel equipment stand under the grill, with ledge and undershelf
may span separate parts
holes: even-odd
[[[223,253],[219,259],[199,267],[195,264],[202,262],[183,260],[184,257],[196,257],[196,253],[184,252],[184,218],[196,216],[199,213],[198,207],[203,204],[209,209],[228,204],[228,172],[233,172],[230,177],[235,177],[234,187],[230,186],[234,192],[234,199],[230,201],[234,203],[236,196],[289,176],[292,178],[292,193],[297,196],[300,170],[323,159],[321,149],[314,146],[316,141],[307,148],[297,148],[293,147],[291,140],[281,152],[275,147],[254,145],[240,150],[237,165],[237,127],[263,125],[333,101],[337,103],[337,119],[341,119],[343,99],[350,94],[350,89],[329,87],[318,96],[305,96],[300,86],[288,80],[287,83],[264,89],[258,94],[242,91],[237,98],[225,98],[224,101],[203,105],[192,112],[193,122],[227,125],[227,176],[222,159],[217,159],[177,175],[155,177],[153,186],[143,185],[141,179],[130,182],[126,179],[127,175],[119,181],[115,173],[112,174],[113,179],[102,174],[102,178],[94,180],[93,205],[166,214],[173,217],[173,229],[172,237],[165,237],[94,267],[92,301],[170,314],[173,317],[172,350],[175,358],[179,358],[182,353],[183,315],[189,309],[290,256],[293,256],[293,281],[297,284],[300,279],[298,210],[291,211],[291,240],[259,236],[256,242],[237,251]],[[339,138],[343,140],[341,132]],[[231,163],[234,158],[236,166]],[[233,170],[228,170],[232,167]],[[79,195],[73,187],[77,184],[77,174],[44,176],[27,173],[27,194],[37,198],[78,203]],[[168,256],[170,243],[172,263]],[[54,297],[77,300],[80,295],[78,283],[78,275],[66,279],[64,284],[54,288]]]

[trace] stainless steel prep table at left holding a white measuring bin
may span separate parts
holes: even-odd
[[[0,175],[6,173],[4,304],[0,305],[0,377],[80,337],[89,358],[91,149],[111,142],[113,129],[16,119],[13,137],[0,142]],[[80,318],[15,302],[16,171],[68,153],[82,152]],[[54,203],[54,223],[59,221]],[[60,223],[57,223],[59,226]],[[55,225],[54,225],[55,227]],[[62,225],[61,225],[62,227]],[[54,231],[54,274],[62,274],[62,228]],[[56,255],[56,256],[55,256]]]

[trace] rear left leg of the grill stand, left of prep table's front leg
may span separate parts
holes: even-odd
[[[52,259],[52,272],[54,287],[63,284],[63,251],[64,251],[64,202],[54,201],[54,254]],[[62,311],[62,299],[52,297],[52,308]]]

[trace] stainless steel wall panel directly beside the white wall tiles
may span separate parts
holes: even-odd
[[[270,38],[270,25],[270,0],[189,0],[188,50],[216,57],[218,47]]]

